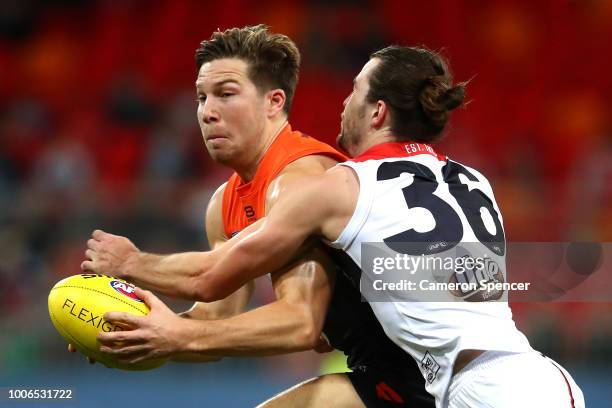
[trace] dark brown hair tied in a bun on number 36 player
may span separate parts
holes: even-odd
[[[463,104],[466,84],[453,85],[446,60],[426,48],[392,45],[370,58],[380,63],[370,76],[367,101],[387,103],[394,135],[399,140],[438,141],[450,111]]]

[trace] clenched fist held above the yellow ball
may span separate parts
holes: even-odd
[[[95,230],[87,241],[86,260],[81,263],[85,272],[125,278],[126,267],[130,257],[139,250],[126,237]]]

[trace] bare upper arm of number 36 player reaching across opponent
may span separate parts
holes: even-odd
[[[265,218],[208,254],[194,288],[197,296],[221,299],[244,282],[278,270],[310,237],[335,240],[353,214],[358,191],[346,167],[291,185]]]

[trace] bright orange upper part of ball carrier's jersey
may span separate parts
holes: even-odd
[[[223,193],[223,228],[231,238],[236,233],[265,216],[268,186],[290,163],[311,155],[329,156],[340,162],[347,158],[333,147],[301,132],[291,130],[287,124],[266,151],[255,176],[244,183],[234,173]]]

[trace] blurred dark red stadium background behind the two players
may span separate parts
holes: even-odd
[[[88,407],[242,407],[321,369],[309,352],[117,372],[68,355],[47,315],[96,227],[148,251],[206,248],[204,209],[229,175],[195,117],[193,54],[213,30],[266,23],[296,40],[291,122],[328,142],[369,52],[443,48],[473,79],[440,150],[491,179],[508,240],[609,242],[610,21],[609,0],[1,1],[0,387],[73,388]],[[261,279],[253,304],[270,299]],[[612,304],[514,310],[588,406],[611,406]]]

